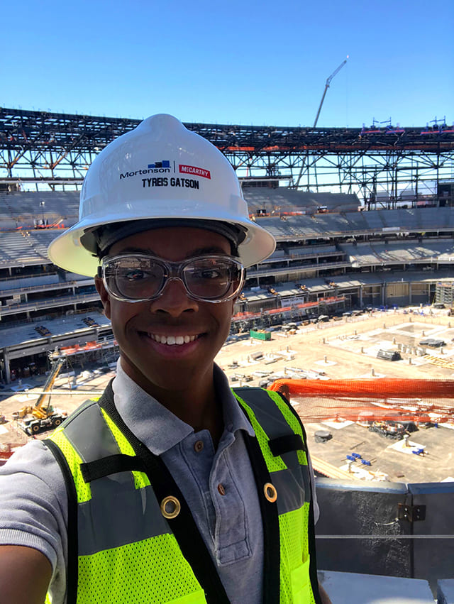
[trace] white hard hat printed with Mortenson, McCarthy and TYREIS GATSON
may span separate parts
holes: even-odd
[[[82,186],[79,222],[50,243],[49,258],[72,273],[94,275],[99,260],[87,234],[102,225],[150,219],[235,226],[245,233],[238,245],[245,266],[275,250],[275,238],[249,219],[238,178],[221,151],[175,117],[160,114],[97,155]]]

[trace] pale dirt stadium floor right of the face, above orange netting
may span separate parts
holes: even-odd
[[[452,327],[451,327],[452,326]],[[419,356],[414,348],[423,337],[444,339],[443,353],[426,348],[432,356],[443,361],[453,360],[453,367],[434,365]],[[363,378],[380,375],[388,378],[452,378],[454,376],[454,317],[446,311],[436,315],[414,315],[401,312],[377,312],[359,317],[346,317],[341,321],[330,321],[309,326],[299,326],[297,334],[284,336],[272,333],[271,341],[245,339],[242,342],[226,344],[216,358],[216,362],[233,373],[253,373],[255,366],[248,366],[247,359],[252,353],[262,351],[264,355],[279,351],[294,351],[292,361],[282,359],[265,367],[273,373],[287,367],[298,367],[314,372],[324,372],[328,378]],[[395,343],[393,343],[395,340]],[[377,358],[380,348],[398,351],[399,344],[407,346],[401,350],[401,361],[382,361]],[[408,351],[411,346],[412,351]],[[242,369],[229,368],[232,361],[243,365]],[[264,368],[263,363],[260,363]],[[245,369],[251,369],[245,371]],[[373,373],[372,373],[373,370]],[[258,379],[249,385],[257,385]]]

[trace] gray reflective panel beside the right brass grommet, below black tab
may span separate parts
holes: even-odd
[[[299,510],[311,500],[308,466],[299,465],[297,468],[272,472],[270,477],[277,490],[279,515]]]

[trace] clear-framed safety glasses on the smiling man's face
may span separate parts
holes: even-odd
[[[227,302],[243,287],[243,265],[231,256],[194,256],[169,262],[146,254],[106,256],[98,269],[109,295],[121,302],[155,300],[169,280],[180,280],[201,302]]]

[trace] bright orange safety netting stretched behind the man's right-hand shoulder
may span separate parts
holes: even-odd
[[[305,422],[454,421],[454,380],[276,380],[269,389],[282,392]]]

